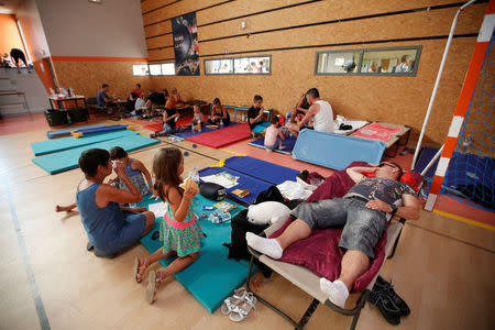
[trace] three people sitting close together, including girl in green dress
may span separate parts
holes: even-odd
[[[94,250],[97,256],[114,257],[139,243],[153,228],[155,215],[152,211],[129,205],[141,201],[152,191],[167,205],[160,226],[162,248],[151,255],[135,258],[132,266],[135,280],[141,283],[144,272],[153,263],[170,255],[177,256],[167,267],[150,272],[145,299],[152,304],[163,280],[195,262],[204,237],[191,204],[199,188],[197,185],[179,187],[184,173],[180,150],[162,147],[155,153],[154,183],[144,164],[129,157],[119,146],[110,152],[100,148],[82,152],[79,167],[85,178],[77,186],[76,204],[57,206],[56,211],[78,208],[88,235],[87,250]],[[107,180],[112,173],[117,177]]]

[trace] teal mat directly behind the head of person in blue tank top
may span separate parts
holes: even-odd
[[[130,136],[117,140],[88,144],[85,146],[69,148],[59,153],[40,156],[33,158],[32,161],[34,164],[36,164],[47,173],[55,174],[78,167],[80,153],[85,150],[94,147],[110,150],[113,146],[121,146],[127,152],[131,152],[156,143],[160,143],[160,141],[155,139],[144,138],[139,134],[132,134]]]

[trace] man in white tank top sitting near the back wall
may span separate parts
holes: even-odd
[[[288,125],[290,133],[297,138],[299,135],[299,130],[302,129],[310,120],[314,121],[312,128],[315,131],[332,133],[333,111],[330,103],[320,99],[320,92],[316,88],[311,88],[306,92],[306,99],[308,100],[310,107],[308,111],[306,111],[302,119],[296,117],[296,122]]]

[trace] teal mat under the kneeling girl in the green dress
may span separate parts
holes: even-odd
[[[146,206],[148,199],[144,198],[139,206]],[[155,202],[153,200],[153,202]],[[212,211],[202,211],[202,206],[212,206],[216,201],[206,199],[197,195],[193,200],[196,215],[207,216]],[[229,200],[230,204],[235,204]],[[230,213],[232,218],[244,209],[238,205]],[[150,233],[141,239],[141,243],[150,253],[162,246],[160,239],[153,240],[153,233],[160,231],[162,218],[155,220],[154,228]],[[230,223],[211,223],[208,218],[200,218],[201,230],[206,238],[201,240],[201,250],[198,258],[187,268],[175,274],[174,277],[210,312],[213,314],[223,300],[229,297],[234,289],[242,286],[248,279],[249,262],[229,260],[229,249],[223,243],[230,243]],[[160,263],[167,266],[174,257],[168,257]],[[158,293],[160,299],[160,293]]]

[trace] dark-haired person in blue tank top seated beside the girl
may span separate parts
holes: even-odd
[[[155,220],[146,208],[119,207],[119,204],[138,202],[142,196],[125,174],[125,166],[121,162],[114,164],[116,174],[129,190],[103,184],[113,167],[108,151],[91,148],[79,157],[85,179],[77,187],[76,204],[88,233],[88,250],[95,248],[95,255],[103,257],[113,257],[138,243]]]

